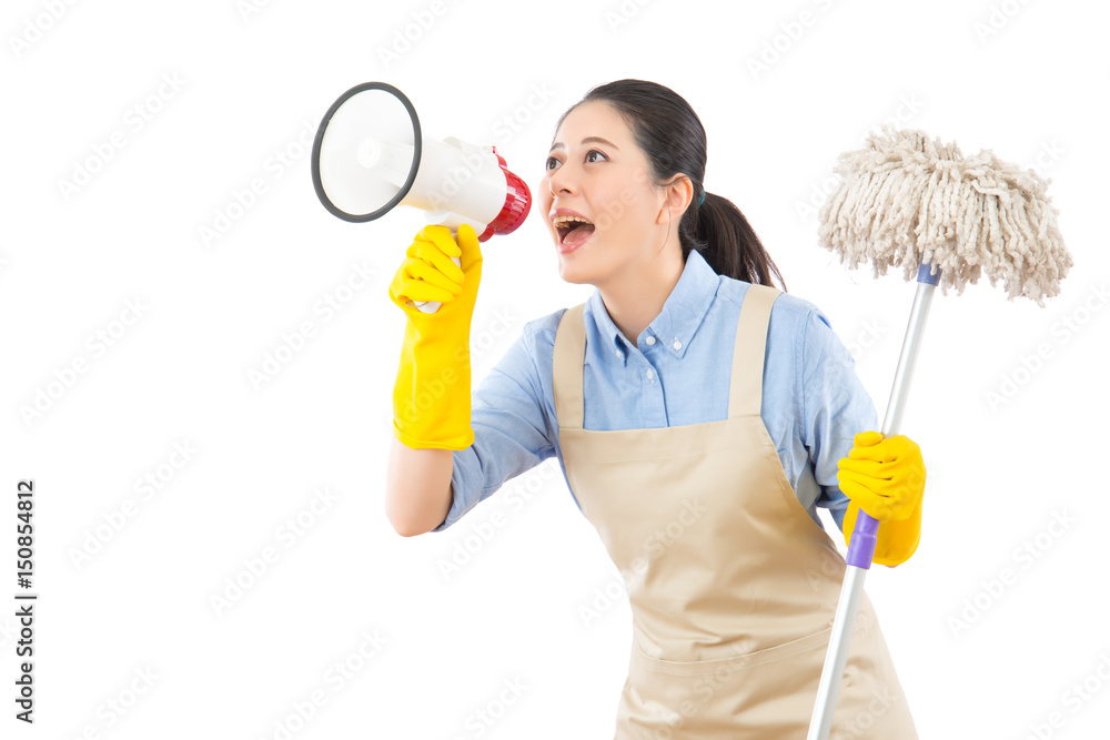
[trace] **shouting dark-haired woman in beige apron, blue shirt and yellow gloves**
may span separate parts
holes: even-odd
[[[876,562],[897,565],[917,548],[925,467],[907,437],[867,430],[850,355],[773,287],[705,165],[697,115],[665,87],[620,80],[564,113],[538,211],[563,280],[597,290],[529,322],[473,409],[478,242],[417,235],[390,286],[408,325],[387,513],[402,535],[440,531],[555,455],[633,610],[616,737],[799,738],[845,571],[816,506],[846,533],[860,507],[880,519]],[[916,738],[866,594],[855,630],[833,737]]]

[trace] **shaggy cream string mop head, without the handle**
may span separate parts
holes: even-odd
[[[990,150],[965,158],[955,142],[924,131],[882,131],[834,168],[841,181],[821,206],[821,246],[849,267],[869,260],[876,277],[901,265],[915,280],[931,262],[945,295],[953,285],[962,295],[983,272],[1010,301],[1022,295],[1043,307],[1059,294],[1072,261],[1046,192],[1051,180]]]

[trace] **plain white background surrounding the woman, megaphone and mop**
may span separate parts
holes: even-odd
[[[2,734],[612,737],[630,615],[553,462],[444,533],[403,538],[385,518],[404,328],[386,286],[423,213],[333,217],[304,144],[340,93],[383,80],[426,135],[496,144],[535,192],[563,111],[630,77],[698,112],[708,190],[857,352],[880,415],[914,287],[817,245],[837,154],[890,121],[1051,178],[1074,267],[1043,307],[986,280],[937,293],[902,424],[929,470],[922,544],[867,590],[922,738],[1102,737],[1108,20],[1078,0],[7,2]],[[67,187],[81,168],[95,172]],[[524,323],[593,290],[559,280],[537,216],[483,244],[475,386]],[[336,295],[341,311],[315,310]],[[303,322],[314,335],[255,387]],[[174,445],[195,450],[178,468]],[[137,488],[148,475],[159,488]],[[23,478],[33,729],[13,719]],[[327,508],[303,514],[325,488]],[[335,663],[355,669],[341,682]]]

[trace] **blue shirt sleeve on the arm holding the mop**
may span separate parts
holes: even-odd
[[[849,499],[836,477],[837,462],[848,456],[856,434],[878,430],[879,419],[856,361],[818,308],[807,316],[803,339],[803,443],[821,489],[817,506],[828,508],[842,529]]]

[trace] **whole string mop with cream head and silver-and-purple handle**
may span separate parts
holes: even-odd
[[[1007,300],[1023,296],[1045,307],[1072,265],[1048,196],[1051,180],[1001,162],[990,150],[965,158],[955,142],[930,141],[922,131],[884,126],[865,149],[845,152],[834,170],[841,181],[821,206],[821,246],[856,267],[870,261],[874,276],[891,266],[917,293],[882,422],[884,438],[898,434],[929,305],[937,285],[963,294],[982,273],[1003,283]],[[826,740],[864,579],[871,566],[879,523],[860,510],[848,547],[847,570],[808,740]]]

